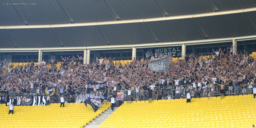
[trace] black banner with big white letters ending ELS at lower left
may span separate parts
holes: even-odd
[[[17,95],[16,98],[7,97],[6,105],[8,106],[13,102],[14,105],[21,105],[23,95]],[[25,105],[27,106],[42,106],[46,105],[46,97],[44,95],[40,96],[26,96]]]

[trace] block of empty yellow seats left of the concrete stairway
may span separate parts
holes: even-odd
[[[14,114],[8,114],[8,106],[0,104],[0,127],[70,127],[81,128],[86,126],[111,104],[103,104],[98,111],[90,105],[87,107],[82,103],[65,103],[65,107],[60,107],[60,103],[49,106],[15,106]]]

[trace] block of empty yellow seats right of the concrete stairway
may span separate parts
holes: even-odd
[[[253,95],[192,98],[191,103],[134,101],[122,104],[99,127],[245,128],[256,121],[255,101]]]

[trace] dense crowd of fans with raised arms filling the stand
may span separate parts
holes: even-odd
[[[215,54],[210,58],[204,55],[186,55],[184,59],[172,60],[169,72],[153,72],[148,67],[148,61],[152,58],[163,57],[161,55],[151,56],[150,58],[135,58],[129,63],[115,61],[101,57],[97,62],[83,64],[83,57],[62,57],[62,65],[55,64],[52,58],[50,63],[39,62],[27,63],[13,69],[11,63],[8,72],[0,74],[0,86],[2,93],[13,90],[15,94],[31,93],[33,90],[36,95],[44,95],[44,87],[57,86],[57,98],[66,94],[72,100],[79,94],[96,94],[90,91],[88,82],[107,82],[100,95],[108,96],[113,92],[127,91],[127,100],[149,99],[172,99],[186,97],[188,91],[196,97],[208,97],[216,93],[223,93],[223,87],[229,86],[229,95],[238,95],[241,85],[242,93],[256,93],[253,89],[256,77],[254,59],[242,52],[232,53],[232,49],[214,50]],[[253,55],[254,56],[254,55]],[[5,64],[0,62],[0,66]],[[57,67],[60,66],[60,69]],[[8,67],[8,66],[7,66]],[[234,89],[233,89],[234,84]],[[219,87],[220,85],[220,87]],[[171,87],[171,89],[168,89]],[[248,89],[248,91],[247,91]],[[134,95],[131,91],[134,90]],[[225,93],[225,92],[224,92]],[[7,98],[4,94],[4,99]],[[114,94],[114,97],[116,94]],[[224,95],[224,94],[223,94]],[[113,96],[113,95],[112,95]],[[57,100],[57,102],[59,102]],[[150,101],[151,102],[151,101]]]

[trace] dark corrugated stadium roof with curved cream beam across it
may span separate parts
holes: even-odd
[[[255,0],[33,2],[35,6],[1,5],[0,48],[147,44],[256,35]]]

